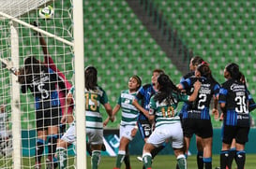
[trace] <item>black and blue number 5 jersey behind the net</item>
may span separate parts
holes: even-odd
[[[37,110],[60,106],[56,84],[65,89],[65,83],[51,68],[44,68],[28,79],[31,80],[22,84],[22,92],[25,93],[29,89],[33,93]]]

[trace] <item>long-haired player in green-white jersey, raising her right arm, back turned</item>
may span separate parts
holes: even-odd
[[[195,82],[194,92],[188,96],[181,94],[167,75],[159,75],[158,92],[150,99],[149,109],[149,120],[151,123],[156,121],[156,128],[143,147],[143,163],[146,169],[151,169],[151,150],[158,148],[166,140],[172,142],[179,168],[187,168],[181,121],[175,109],[180,101],[194,101],[197,98],[200,86],[199,81]]]

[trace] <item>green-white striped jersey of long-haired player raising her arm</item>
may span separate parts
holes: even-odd
[[[154,96],[150,99],[149,115],[155,115],[156,127],[162,124],[173,124],[180,122],[180,117],[176,111],[178,102],[188,101],[188,95],[173,93],[174,102],[171,105],[167,105],[166,100],[158,103],[154,100]]]

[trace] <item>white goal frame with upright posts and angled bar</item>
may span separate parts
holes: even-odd
[[[0,46],[0,57],[1,59],[11,60],[14,67],[21,66],[20,52],[19,49],[19,31],[21,28],[17,25],[23,25],[23,27],[34,30],[47,38],[53,38],[65,45],[68,45],[73,52],[74,60],[73,72],[74,72],[74,85],[75,85],[75,119],[76,123],[76,168],[84,169],[86,168],[86,140],[85,140],[85,116],[84,116],[84,55],[83,55],[83,0],[70,0],[72,4],[72,31],[68,33],[71,34],[68,39],[64,36],[55,35],[55,31],[48,32],[40,27],[32,25],[30,19],[28,21],[21,20],[20,18],[25,16],[31,11],[38,11],[40,7],[46,7],[52,3],[65,3],[68,0],[2,0],[0,1],[0,21],[8,21],[10,29],[10,50],[11,57],[6,57],[4,51],[1,50]],[[58,15],[58,14],[54,14]],[[36,18],[38,14],[36,14]],[[41,19],[39,19],[41,20]],[[50,19],[51,20],[51,19]],[[47,25],[47,21],[46,21]],[[0,27],[1,29],[1,27]],[[57,31],[56,31],[57,32]],[[1,34],[1,30],[0,30]],[[1,38],[1,36],[0,36]],[[8,40],[7,40],[8,41]],[[7,42],[8,43],[8,42]],[[4,44],[6,45],[6,44]],[[61,46],[61,45],[60,45]],[[24,45],[24,48],[26,46]],[[57,48],[57,47],[55,47]],[[17,82],[17,77],[11,76],[11,125],[12,125],[12,167],[14,169],[23,168],[23,157],[22,157],[22,127],[21,127],[21,105],[20,105],[20,86]],[[0,84],[1,85],[1,84]]]

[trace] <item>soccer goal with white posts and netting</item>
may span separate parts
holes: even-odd
[[[68,168],[86,168],[83,0],[0,1],[0,168],[37,167],[37,93],[21,91],[17,76],[32,56],[75,86],[74,119],[80,127],[76,146],[68,148]],[[40,86],[38,91],[44,92]],[[51,136],[41,139],[40,168],[47,167]]]

